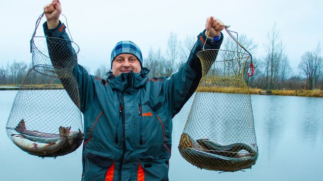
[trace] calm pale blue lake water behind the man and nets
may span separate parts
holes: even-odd
[[[0,91],[0,180],[80,180],[81,152],[39,158],[8,138],[6,123],[17,91]],[[199,169],[178,149],[192,99],[173,119],[170,180],[323,180],[323,99],[251,95],[257,145],[256,164],[236,172]]]

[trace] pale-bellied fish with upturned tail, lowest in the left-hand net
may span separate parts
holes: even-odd
[[[60,139],[53,143],[35,142],[25,138],[21,134],[13,134],[12,140],[23,151],[26,151],[32,155],[45,157],[45,156],[54,154],[64,146],[69,136],[70,128],[61,126],[59,128],[59,132],[60,132]]]

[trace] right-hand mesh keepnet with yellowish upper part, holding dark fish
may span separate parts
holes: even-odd
[[[180,138],[180,154],[208,170],[250,168],[258,155],[251,99],[243,79],[251,55],[202,50],[197,57],[202,64],[202,78]]]

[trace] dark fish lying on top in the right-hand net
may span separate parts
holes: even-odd
[[[198,144],[204,147],[208,152],[213,154],[218,154],[227,157],[243,157],[246,154],[256,155],[257,151],[250,145],[246,143],[233,143],[229,145],[224,145],[215,140],[209,139],[198,139],[196,140]],[[245,151],[243,151],[245,150]]]

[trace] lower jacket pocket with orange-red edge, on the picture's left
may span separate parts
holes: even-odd
[[[101,155],[87,153],[82,180],[112,180],[114,174],[114,159]]]

